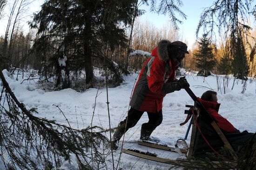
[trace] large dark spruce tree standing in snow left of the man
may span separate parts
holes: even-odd
[[[105,64],[114,75],[116,84],[122,82],[119,66],[115,66],[109,58],[115,48],[126,46],[124,26],[131,24],[134,6],[135,0],[47,0],[41,11],[34,15],[31,24],[33,28],[38,28],[40,35],[34,50],[46,63],[43,75],[48,74],[46,68],[52,64],[57,86],[66,80],[68,87],[72,79],[70,71],[84,69],[86,82],[90,84],[93,66],[102,67]],[[65,49],[60,51],[63,45]],[[58,60],[64,55],[67,56],[67,64],[61,66]],[[51,63],[47,63],[48,59]]]

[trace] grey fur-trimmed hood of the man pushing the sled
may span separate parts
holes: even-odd
[[[163,39],[159,41],[157,47],[152,51],[152,56],[158,56],[162,61],[168,61],[168,45],[171,44],[169,40]]]

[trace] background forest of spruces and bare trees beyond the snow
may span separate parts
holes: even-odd
[[[151,52],[161,39],[186,43],[177,25],[182,21],[175,14],[182,19],[186,19],[186,15],[178,6],[173,5],[176,13],[168,8],[172,1],[159,6],[152,6],[153,2],[47,0],[40,12],[34,14],[34,19],[29,21],[28,33],[24,33],[20,22],[30,1],[2,0],[0,16],[8,16],[8,25],[5,35],[0,36],[1,69],[37,70],[41,75],[38,82],[53,82],[56,89],[74,87],[72,82],[81,77],[85,88],[98,86],[94,70],[107,69],[110,84],[119,85],[123,81],[122,74],[139,72],[148,58],[130,56],[133,50]],[[139,9],[142,3],[155,7],[152,10],[156,13],[168,14],[172,20],[161,29],[147,21],[137,20],[145,13]],[[179,0],[179,3],[182,4],[182,1]],[[176,5],[181,5],[179,3]],[[222,11],[225,15],[218,16],[214,12],[216,19],[211,20],[214,19],[210,18],[213,10],[207,11],[205,8],[198,25],[198,31],[203,29],[205,40],[209,41],[201,46],[210,48],[211,57],[206,57],[205,51],[200,50],[202,35],[197,35],[197,42],[184,59],[184,68],[198,71],[208,69],[215,74],[232,74],[240,79],[255,77],[256,29],[248,25],[249,19],[255,14],[255,6],[246,5],[242,0],[238,4],[225,0],[221,3],[223,9],[216,3],[216,11]],[[223,6],[224,3],[226,6]],[[7,4],[10,13],[3,13]],[[250,8],[247,9],[247,6]],[[225,7],[233,10],[232,13],[225,11]],[[247,11],[251,15],[246,14]],[[219,26],[216,28],[216,25]],[[217,38],[214,38],[216,35]],[[208,68],[209,58],[214,60],[214,64]]]

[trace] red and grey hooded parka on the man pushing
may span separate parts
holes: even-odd
[[[178,62],[173,62],[168,57],[169,43],[168,40],[160,41],[152,51],[152,57],[143,64],[130,102],[134,109],[150,113],[162,109],[166,94],[164,88],[175,80],[175,70],[178,68]]]

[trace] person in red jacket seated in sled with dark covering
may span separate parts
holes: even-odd
[[[217,102],[218,98],[215,91],[209,90],[204,92],[202,97],[198,98],[198,100],[202,103],[211,117],[216,121],[217,125],[228,139],[234,151],[244,151],[245,147],[252,145],[256,141],[256,135],[254,133],[249,133],[247,131],[240,132],[227,119],[223,118],[218,113],[220,103]],[[214,150],[220,151],[224,146],[217,132],[207,119],[206,114],[207,113],[200,112],[198,117],[198,124],[202,133],[198,130],[196,131],[193,150],[194,157],[207,157],[207,153],[213,152],[207,142],[202,138],[202,134],[205,139],[208,140],[209,144],[214,148]]]

